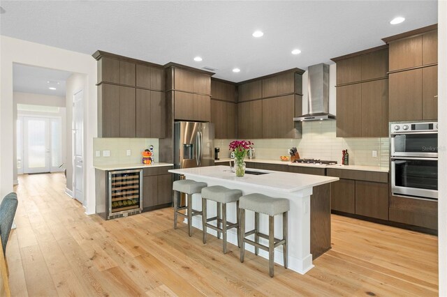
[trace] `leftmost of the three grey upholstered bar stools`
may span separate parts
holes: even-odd
[[[201,211],[196,211],[192,206],[193,194],[200,193],[203,188],[207,186],[206,183],[201,183],[198,181],[193,181],[192,179],[182,179],[180,181],[175,181],[173,183],[174,190],[174,229],[177,229],[177,216],[181,215],[188,219],[188,232],[189,236],[193,234],[193,216],[201,215]],[[179,193],[185,193],[188,197],[186,206],[179,207]],[[180,211],[186,209],[186,214]]]

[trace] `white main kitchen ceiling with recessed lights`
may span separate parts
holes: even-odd
[[[217,68],[240,82],[383,45],[437,23],[437,1],[1,1],[2,35],[93,54]],[[396,16],[406,21],[389,22]],[[254,38],[255,30],[264,32]],[[294,56],[291,50],[302,53]],[[203,61],[193,61],[194,56]],[[233,68],[240,73],[233,73]]]

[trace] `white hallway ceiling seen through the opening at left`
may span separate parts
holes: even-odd
[[[62,70],[14,63],[13,91],[62,96],[65,98],[66,79],[70,75],[71,73]],[[50,86],[56,89],[48,89]]]

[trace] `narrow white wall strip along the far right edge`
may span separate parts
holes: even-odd
[[[439,296],[447,296],[447,1],[438,1]]]

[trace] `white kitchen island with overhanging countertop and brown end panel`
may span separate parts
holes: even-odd
[[[291,209],[288,213],[288,268],[304,274],[313,267],[311,241],[314,250],[321,254],[330,249],[330,187],[329,184],[339,178],[315,176],[309,174],[294,174],[288,172],[273,172],[260,169],[249,169],[247,172],[261,173],[236,177],[228,166],[197,167],[189,169],[170,169],[169,172],[182,174],[186,179],[203,181],[207,185],[222,185],[226,188],[240,189],[243,195],[261,193],[270,197],[281,197],[290,200]],[[314,191],[315,190],[315,191]],[[314,193],[314,195],[312,195]],[[201,208],[200,194],[193,195],[193,208]],[[312,196],[312,197],[311,197]],[[208,216],[216,215],[215,204],[207,201]],[[235,205],[228,205],[228,221],[236,221]],[[214,211],[214,213],[212,213]],[[199,218],[193,218],[193,226],[202,229]],[[282,220],[275,218],[275,237],[281,238]],[[246,229],[254,228],[254,213],[246,213]],[[216,234],[208,229],[210,234]],[[268,233],[268,217],[260,215],[260,230]],[[263,238],[260,238],[261,243]],[[237,245],[234,229],[228,231],[228,242]],[[317,243],[317,244],[315,244]],[[321,244],[318,244],[321,243]],[[254,247],[246,245],[247,250],[254,252]],[[322,252],[321,252],[322,251]],[[268,259],[268,252],[259,251],[259,255]],[[274,253],[274,261],[283,264],[281,248]]]

